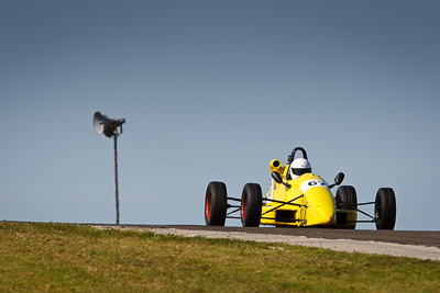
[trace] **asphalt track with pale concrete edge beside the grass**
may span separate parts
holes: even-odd
[[[139,229],[187,237],[284,243],[332,249],[413,257],[440,261],[440,232],[349,230],[324,228],[215,227],[196,225],[91,225],[97,228]]]

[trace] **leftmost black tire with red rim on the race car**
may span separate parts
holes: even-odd
[[[228,210],[227,185],[209,182],[205,195],[205,223],[207,226],[224,226]]]

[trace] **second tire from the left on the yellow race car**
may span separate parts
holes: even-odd
[[[241,195],[241,224],[243,227],[258,227],[262,213],[262,189],[260,184],[248,183]]]

